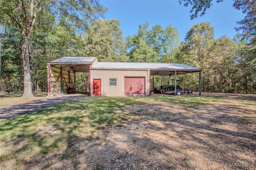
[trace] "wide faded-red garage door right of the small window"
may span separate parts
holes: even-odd
[[[145,77],[125,77],[124,94],[145,94]]]

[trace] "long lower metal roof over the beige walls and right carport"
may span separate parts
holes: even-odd
[[[150,70],[150,75],[173,75],[175,70],[177,74],[186,74],[199,72],[200,68],[195,68],[185,64],[170,63],[110,63],[98,62],[92,66],[92,69],[108,70]]]

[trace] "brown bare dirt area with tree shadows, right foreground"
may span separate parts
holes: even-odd
[[[226,101],[186,108],[169,102],[125,106],[126,121],[81,134],[34,168],[254,170],[256,108],[231,105],[233,96]]]

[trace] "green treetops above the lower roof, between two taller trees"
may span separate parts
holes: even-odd
[[[155,25],[149,29],[149,22],[139,25],[138,33],[126,37],[126,49],[131,62],[174,63],[180,39],[178,30],[172,25],[162,29]]]

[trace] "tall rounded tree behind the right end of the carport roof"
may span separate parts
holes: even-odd
[[[205,90],[210,70],[217,63],[214,58],[214,28],[209,22],[202,22],[194,24],[187,32],[185,43],[180,47],[179,59],[184,59],[188,65],[202,69],[202,90]],[[193,86],[197,86],[194,84]]]

